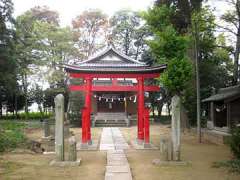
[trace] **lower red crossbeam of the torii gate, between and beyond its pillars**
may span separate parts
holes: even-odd
[[[85,85],[70,85],[70,91],[86,91]],[[159,91],[158,86],[144,86],[144,91]],[[138,91],[138,86],[92,86],[92,91]]]

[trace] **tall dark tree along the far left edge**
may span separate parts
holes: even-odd
[[[16,60],[14,56],[13,3],[0,1],[0,117],[3,102],[17,89]]]

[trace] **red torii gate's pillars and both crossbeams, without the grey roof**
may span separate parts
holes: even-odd
[[[149,108],[145,107],[144,92],[159,91],[158,86],[145,86],[145,78],[159,77],[160,73],[155,74],[82,74],[70,73],[72,78],[83,78],[84,85],[70,85],[70,91],[84,91],[85,105],[82,109],[82,143],[91,144],[91,96],[92,92],[97,91],[135,91],[138,97],[138,134],[137,140],[140,143],[149,143]],[[110,86],[92,85],[93,78],[112,78]],[[136,78],[138,85],[122,86],[117,84],[116,78]]]

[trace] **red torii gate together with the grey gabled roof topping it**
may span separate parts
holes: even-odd
[[[82,143],[91,143],[91,95],[92,92],[137,92],[138,98],[138,142],[149,143],[149,109],[145,108],[144,92],[159,91],[160,87],[145,85],[145,79],[158,78],[160,73],[166,69],[166,65],[148,66],[147,64],[134,60],[113,47],[108,47],[98,56],[76,65],[64,65],[66,72],[71,78],[82,78],[83,85],[69,85],[70,91],[85,92],[85,106],[82,110]],[[110,78],[111,85],[93,85],[94,78]],[[117,78],[137,79],[137,85],[120,85]]]

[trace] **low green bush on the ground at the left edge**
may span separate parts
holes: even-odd
[[[26,141],[24,125],[16,122],[2,122],[0,126],[0,152],[18,147]]]

